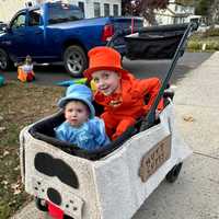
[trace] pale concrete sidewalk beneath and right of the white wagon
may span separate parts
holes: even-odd
[[[178,180],[163,182],[132,219],[219,219],[218,69],[219,53],[215,53],[177,83],[176,123],[194,154],[184,162]],[[31,203],[12,218],[48,217]]]

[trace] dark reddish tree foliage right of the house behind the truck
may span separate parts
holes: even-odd
[[[150,24],[154,24],[154,10],[165,9],[168,3],[169,0],[122,0],[122,13],[142,15]]]

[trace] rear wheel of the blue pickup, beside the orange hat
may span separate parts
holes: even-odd
[[[88,58],[84,50],[77,45],[69,46],[64,54],[66,70],[74,78],[82,77],[84,69],[88,68]]]

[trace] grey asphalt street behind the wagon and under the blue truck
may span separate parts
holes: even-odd
[[[209,58],[209,53],[185,53],[178,59],[177,66],[171,79],[172,83],[184,78],[184,76],[192,69],[197,68],[204,60]],[[123,66],[129,70],[137,78],[159,77],[163,79],[170,66],[169,60],[128,60],[124,59]],[[33,83],[44,85],[56,85],[57,82],[72,79],[60,65],[50,66],[35,66],[36,81]],[[15,71],[2,72],[5,79],[16,80]]]

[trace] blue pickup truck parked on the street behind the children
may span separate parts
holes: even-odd
[[[61,2],[23,9],[0,34],[0,68],[7,70],[30,55],[39,64],[64,61],[71,76],[80,77],[88,67],[88,50],[106,45],[114,32],[129,28],[131,20],[142,26],[139,18],[84,19],[79,7]],[[123,42],[117,49],[124,53]]]

